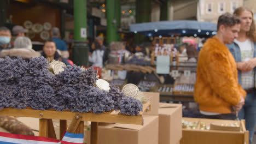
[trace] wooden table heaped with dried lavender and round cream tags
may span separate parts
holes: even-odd
[[[67,120],[72,120],[70,133],[84,133],[84,121],[90,121],[91,143],[97,143],[98,122],[143,125],[143,112],[150,110],[150,101],[137,86],[127,84],[120,90],[98,79],[92,67],[66,67],[44,57],[30,62],[5,57],[0,66],[0,114],[40,118],[42,137],[57,139],[52,119],[60,119],[60,135]]]

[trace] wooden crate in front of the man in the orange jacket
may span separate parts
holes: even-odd
[[[188,122],[199,122],[196,129],[183,128],[181,144],[241,144],[249,143],[249,131],[245,128],[245,120],[231,121],[223,119],[205,119],[205,118],[183,118]],[[224,130],[200,130],[200,122],[205,122],[206,126],[211,123],[231,124],[240,123],[241,131],[224,131]]]

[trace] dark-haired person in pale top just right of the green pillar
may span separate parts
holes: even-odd
[[[103,67],[103,56],[104,56],[104,50],[101,49],[101,45],[95,41],[91,44],[92,49],[94,49],[94,52],[89,53],[89,62],[92,63],[92,66],[95,67]]]

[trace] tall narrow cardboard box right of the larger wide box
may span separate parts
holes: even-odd
[[[182,104],[159,104],[159,144],[176,144],[182,138]]]

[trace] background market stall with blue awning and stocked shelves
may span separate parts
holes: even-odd
[[[189,56],[179,49],[181,37],[208,38],[216,34],[217,26],[212,22],[190,20],[159,21],[136,23],[130,26],[130,31],[153,37],[153,50],[150,55],[150,66],[155,68],[158,77],[165,76],[162,85],[152,91],[160,92],[161,100],[166,101],[193,101],[193,87],[196,75],[196,59],[198,52],[195,39],[185,38]],[[167,58],[168,57],[168,58]],[[169,60],[167,60],[169,59]],[[174,79],[168,83],[166,75]]]

